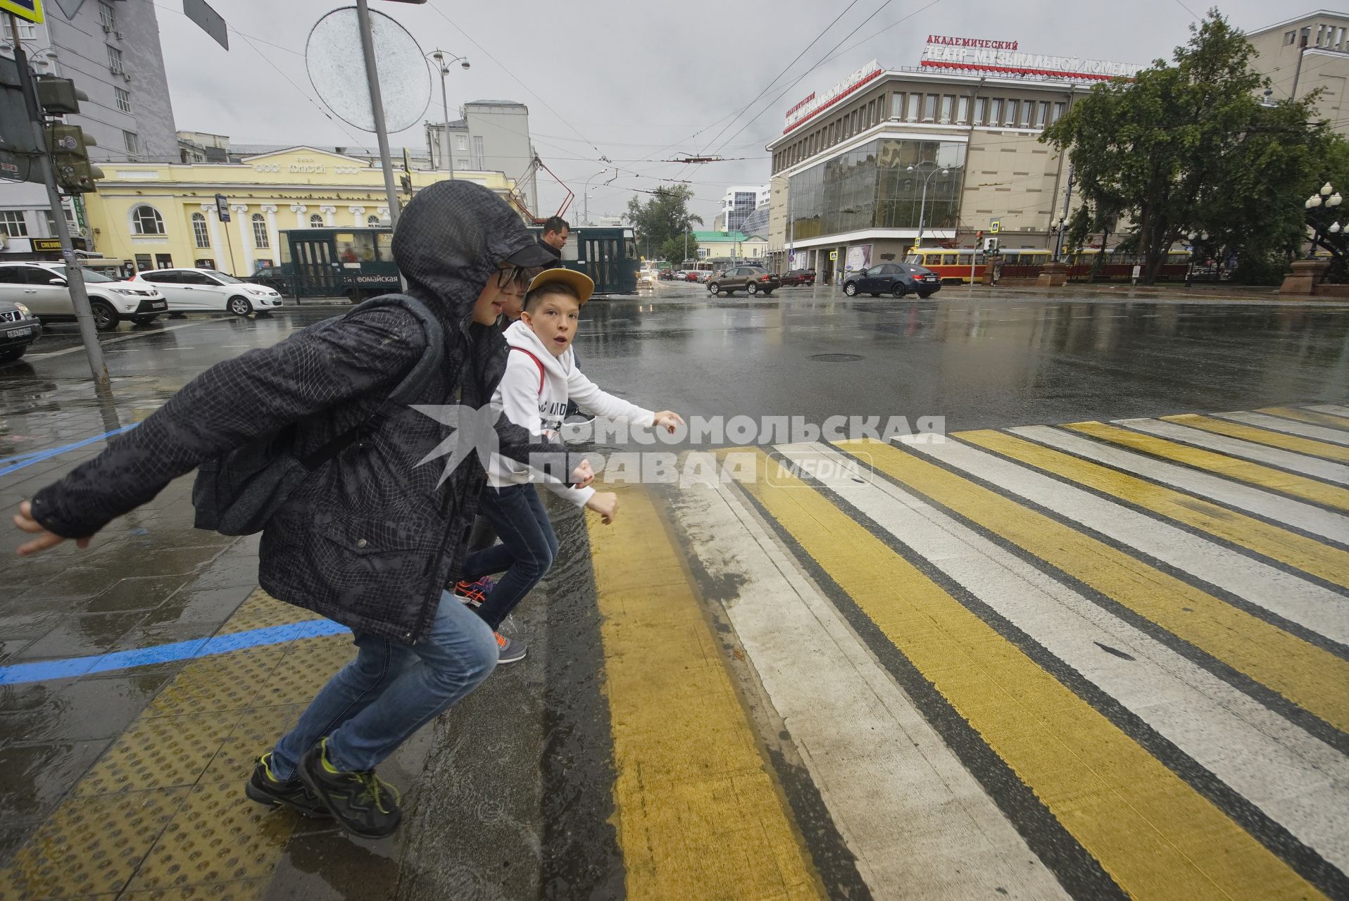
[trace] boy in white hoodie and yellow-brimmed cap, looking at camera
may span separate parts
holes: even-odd
[[[576,337],[580,308],[594,291],[595,282],[584,272],[550,268],[534,277],[525,294],[519,321],[506,329],[510,357],[492,403],[502,407],[503,417],[510,422],[554,441],[558,440],[569,399],[592,415],[673,432],[684,422],[677,413],[653,413],[607,394],[576,368],[572,339]],[[478,615],[492,630],[499,629],[510,611],[538,584],[557,556],[557,537],[532,482],[533,471],[527,467],[492,456],[482,513],[502,544],[471,553],[464,560],[461,576],[464,583],[471,583],[490,573],[506,573],[490,592],[482,595],[478,606]],[[606,525],[618,511],[618,495],[611,491],[568,488],[548,476],[544,483],[558,496],[600,514]],[[509,664],[525,657],[525,643],[519,639],[498,633],[496,643],[500,649],[498,662]]]

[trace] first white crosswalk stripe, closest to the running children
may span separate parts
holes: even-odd
[[[734,491],[676,518],[876,897],[1066,898],[942,738]]]

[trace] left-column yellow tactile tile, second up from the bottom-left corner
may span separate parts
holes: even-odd
[[[196,785],[243,711],[138,719],[85,774],[76,797]]]

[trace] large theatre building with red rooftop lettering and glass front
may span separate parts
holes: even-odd
[[[920,67],[873,61],[811,93],[768,146],[773,264],[823,277],[917,243],[973,247],[992,220],[1002,247],[1052,247],[1067,159],[1040,134],[1101,78],[1136,70],[934,35]]]

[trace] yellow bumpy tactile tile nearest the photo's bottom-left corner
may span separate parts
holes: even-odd
[[[0,870],[0,900],[34,901],[120,890],[188,790],[67,800]]]

